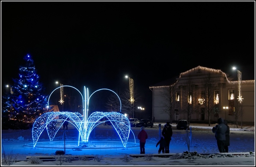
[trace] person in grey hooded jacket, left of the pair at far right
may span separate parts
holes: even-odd
[[[226,142],[226,131],[227,126],[224,124],[224,119],[218,119],[218,125],[212,128],[212,132],[215,133],[215,138],[217,140],[217,146],[220,153],[225,153],[224,145]]]

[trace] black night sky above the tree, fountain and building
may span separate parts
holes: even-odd
[[[1,1],[1,86],[30,54],[46,93],[55,81],[122,92],[129,75],[152,111],[149,86],[197,66],[254,80],[254,19],[255,1]]]

